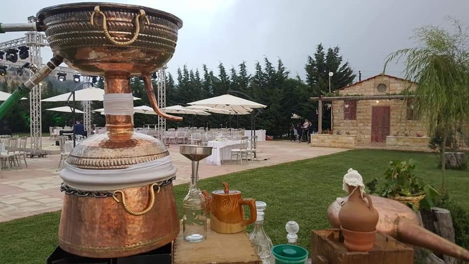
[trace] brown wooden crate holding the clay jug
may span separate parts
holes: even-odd
[[[376,233],[368,252],[349,252],[340,229],[314,230],[311,234],[312,264],[413,264],[414,249],[394,238]]]

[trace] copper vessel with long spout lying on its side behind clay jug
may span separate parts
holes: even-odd
[[[378,196],[369,196],[380,218],[376,229],[399,241],[427,248],[433,252],[469,261],[469,251],[428,231],[421,226],[418,216],[405,204]],[[347,197],[343,197],[347,200]],[[327,209],[329,223],[340,228],[339,211],[341,205],[334,201]]]

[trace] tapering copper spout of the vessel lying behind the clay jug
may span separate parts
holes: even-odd
[[[420,225],[400,220],[398,236],[402,242],[427,248],[433,252],[469,261],[469,251],[450,242]]]

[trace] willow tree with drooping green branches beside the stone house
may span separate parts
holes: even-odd
[[[449,131],[469,124],[469,46],[467,29],[458,20],[448,18],[454,32],[438,26],[423,26],[411,39],[417,46],[391,53],[391,61],[405,60],[405,78],[418,83],[413,93],[414,113],[424,118],[428,132],[443,128],[441,157],[442,189],[445,188],[446,143]]]

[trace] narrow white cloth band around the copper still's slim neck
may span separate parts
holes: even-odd
[[[104,112],[111,115],[133,115],[132,93],[104,94]]]

